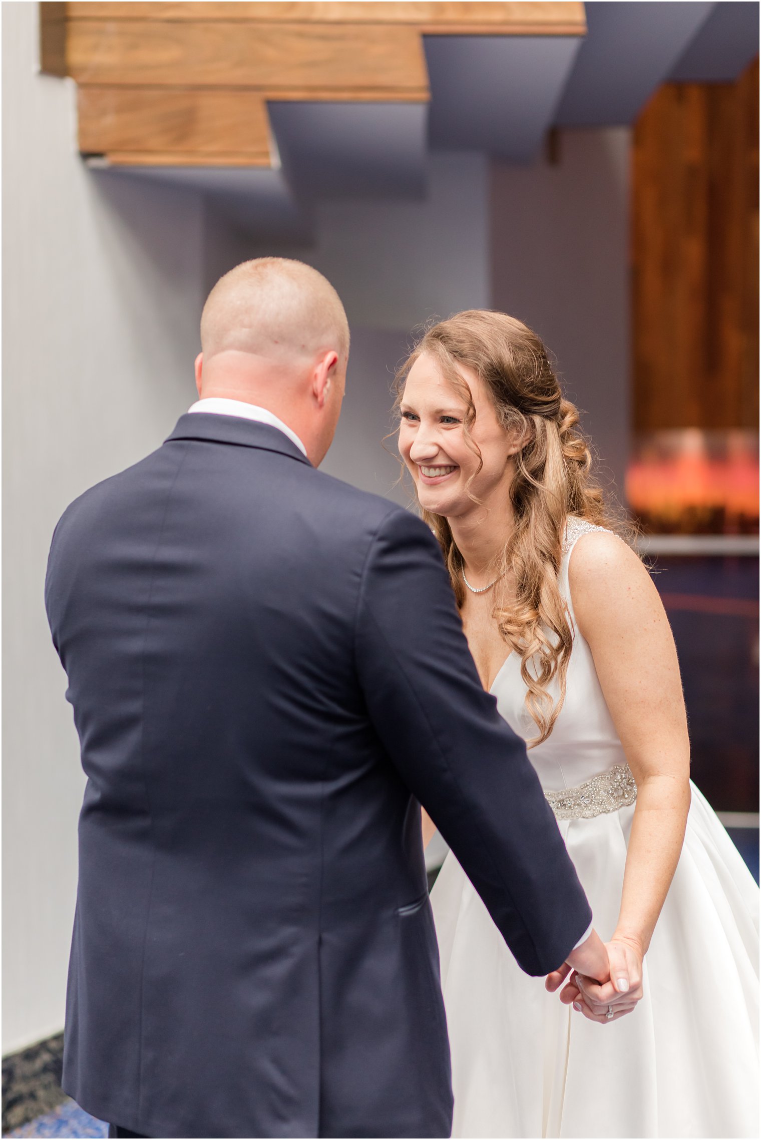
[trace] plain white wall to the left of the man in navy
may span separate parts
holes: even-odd
[[[2,6],[3,1037],[58,1032],[83,777],[42,587],[54,526],[195,394],[198,194],[88,172],[75,88],[36,74],[38,5]]]

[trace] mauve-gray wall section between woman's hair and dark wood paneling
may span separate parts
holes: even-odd
[[[564,130],[559,162],[496,163],[492,303],[531,325],[623,499],[629,450],[628,128]]]

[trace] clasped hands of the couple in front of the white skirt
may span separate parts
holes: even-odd
[[[592,930],[587,942],[548,976],[547,990],[555,993],[566,978],[567,985],[560,991],[564,1005],[573,1003],[589,1021],[600,1025],[617,1021],[643,996],[643,948],[636,939],[623,935],[614,935],[603,945]]]

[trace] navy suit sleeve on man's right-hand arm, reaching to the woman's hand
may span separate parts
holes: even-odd
[[[386,515],[365,563],[357,665],[370,718],[526,974],[556,969],[591,911],[524,742],[485,693],[427,527]]]

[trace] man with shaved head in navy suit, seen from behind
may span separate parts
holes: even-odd
[[[337,294],[247,262],[201,333],[201,400],[50,551],[88,776],[64,1089],[112,1135],[448,1137],[418,801],[524,970],[605,950],[435,540],[317,470]]]

